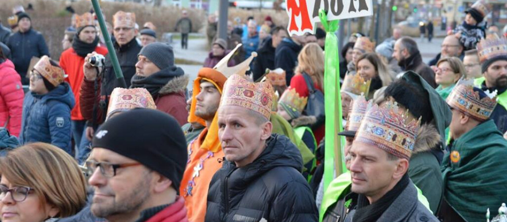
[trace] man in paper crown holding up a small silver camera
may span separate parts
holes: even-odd
[[[114,48],[127,87],[130,86],[131,78],[136,72],[137,55],[141,50],[141,46],[135,39],[137,30],[134,26],[134,13],[119,11],[113,16],[113,33],[116,39]],[[99,69],[99,74],[96,68],[88,62],[89,58],[95,55],[97,53],[93,52],[85,57],[85,61],[87,61],[83,66],[85,78],[81,84],[80,95],[81,114],[88,120],[86,134],[89,140],[92,138],[93,129],[96,129],[105,119],[104,115],[99,115],[93,110],[101,109],[101,114],[106,113],[109,96],[114,88],[120,87],[111,58],[105,57],[104,66]],[[96,99],[97,95],[100,95],[99,100]]]

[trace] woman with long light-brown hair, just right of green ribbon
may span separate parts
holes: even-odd
[[[366,53],[357,59],[355,64],[356,72],[366,81],[372,80],[368,98],[373,98],[373,94],[382,86],[387,86],[393,81],[393,73],[382,62],[375,53]]]

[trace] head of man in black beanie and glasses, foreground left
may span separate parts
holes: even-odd
[[[187,163],[178,122],[152,109],[107,120],[86,162],[94,188],[92,213],[108,221],[187,221],[178,188]]]

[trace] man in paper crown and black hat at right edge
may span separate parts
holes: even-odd
[[[498,106],[489,118],[503,134],[507,131],[507,40],[490,36],[477,44],[477,51],[483,77],[474,83],[483,91],[497,92]]]

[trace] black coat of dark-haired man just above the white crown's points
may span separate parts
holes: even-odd
[[[266,68],[274,70],[275,69],[275,48],[273,48],[273,40],[271,37],[266,38],[264,40],[261,48],[257,51],[257,58],[253,61],[253,80],[257,80],[264,73],[266,73]]]

